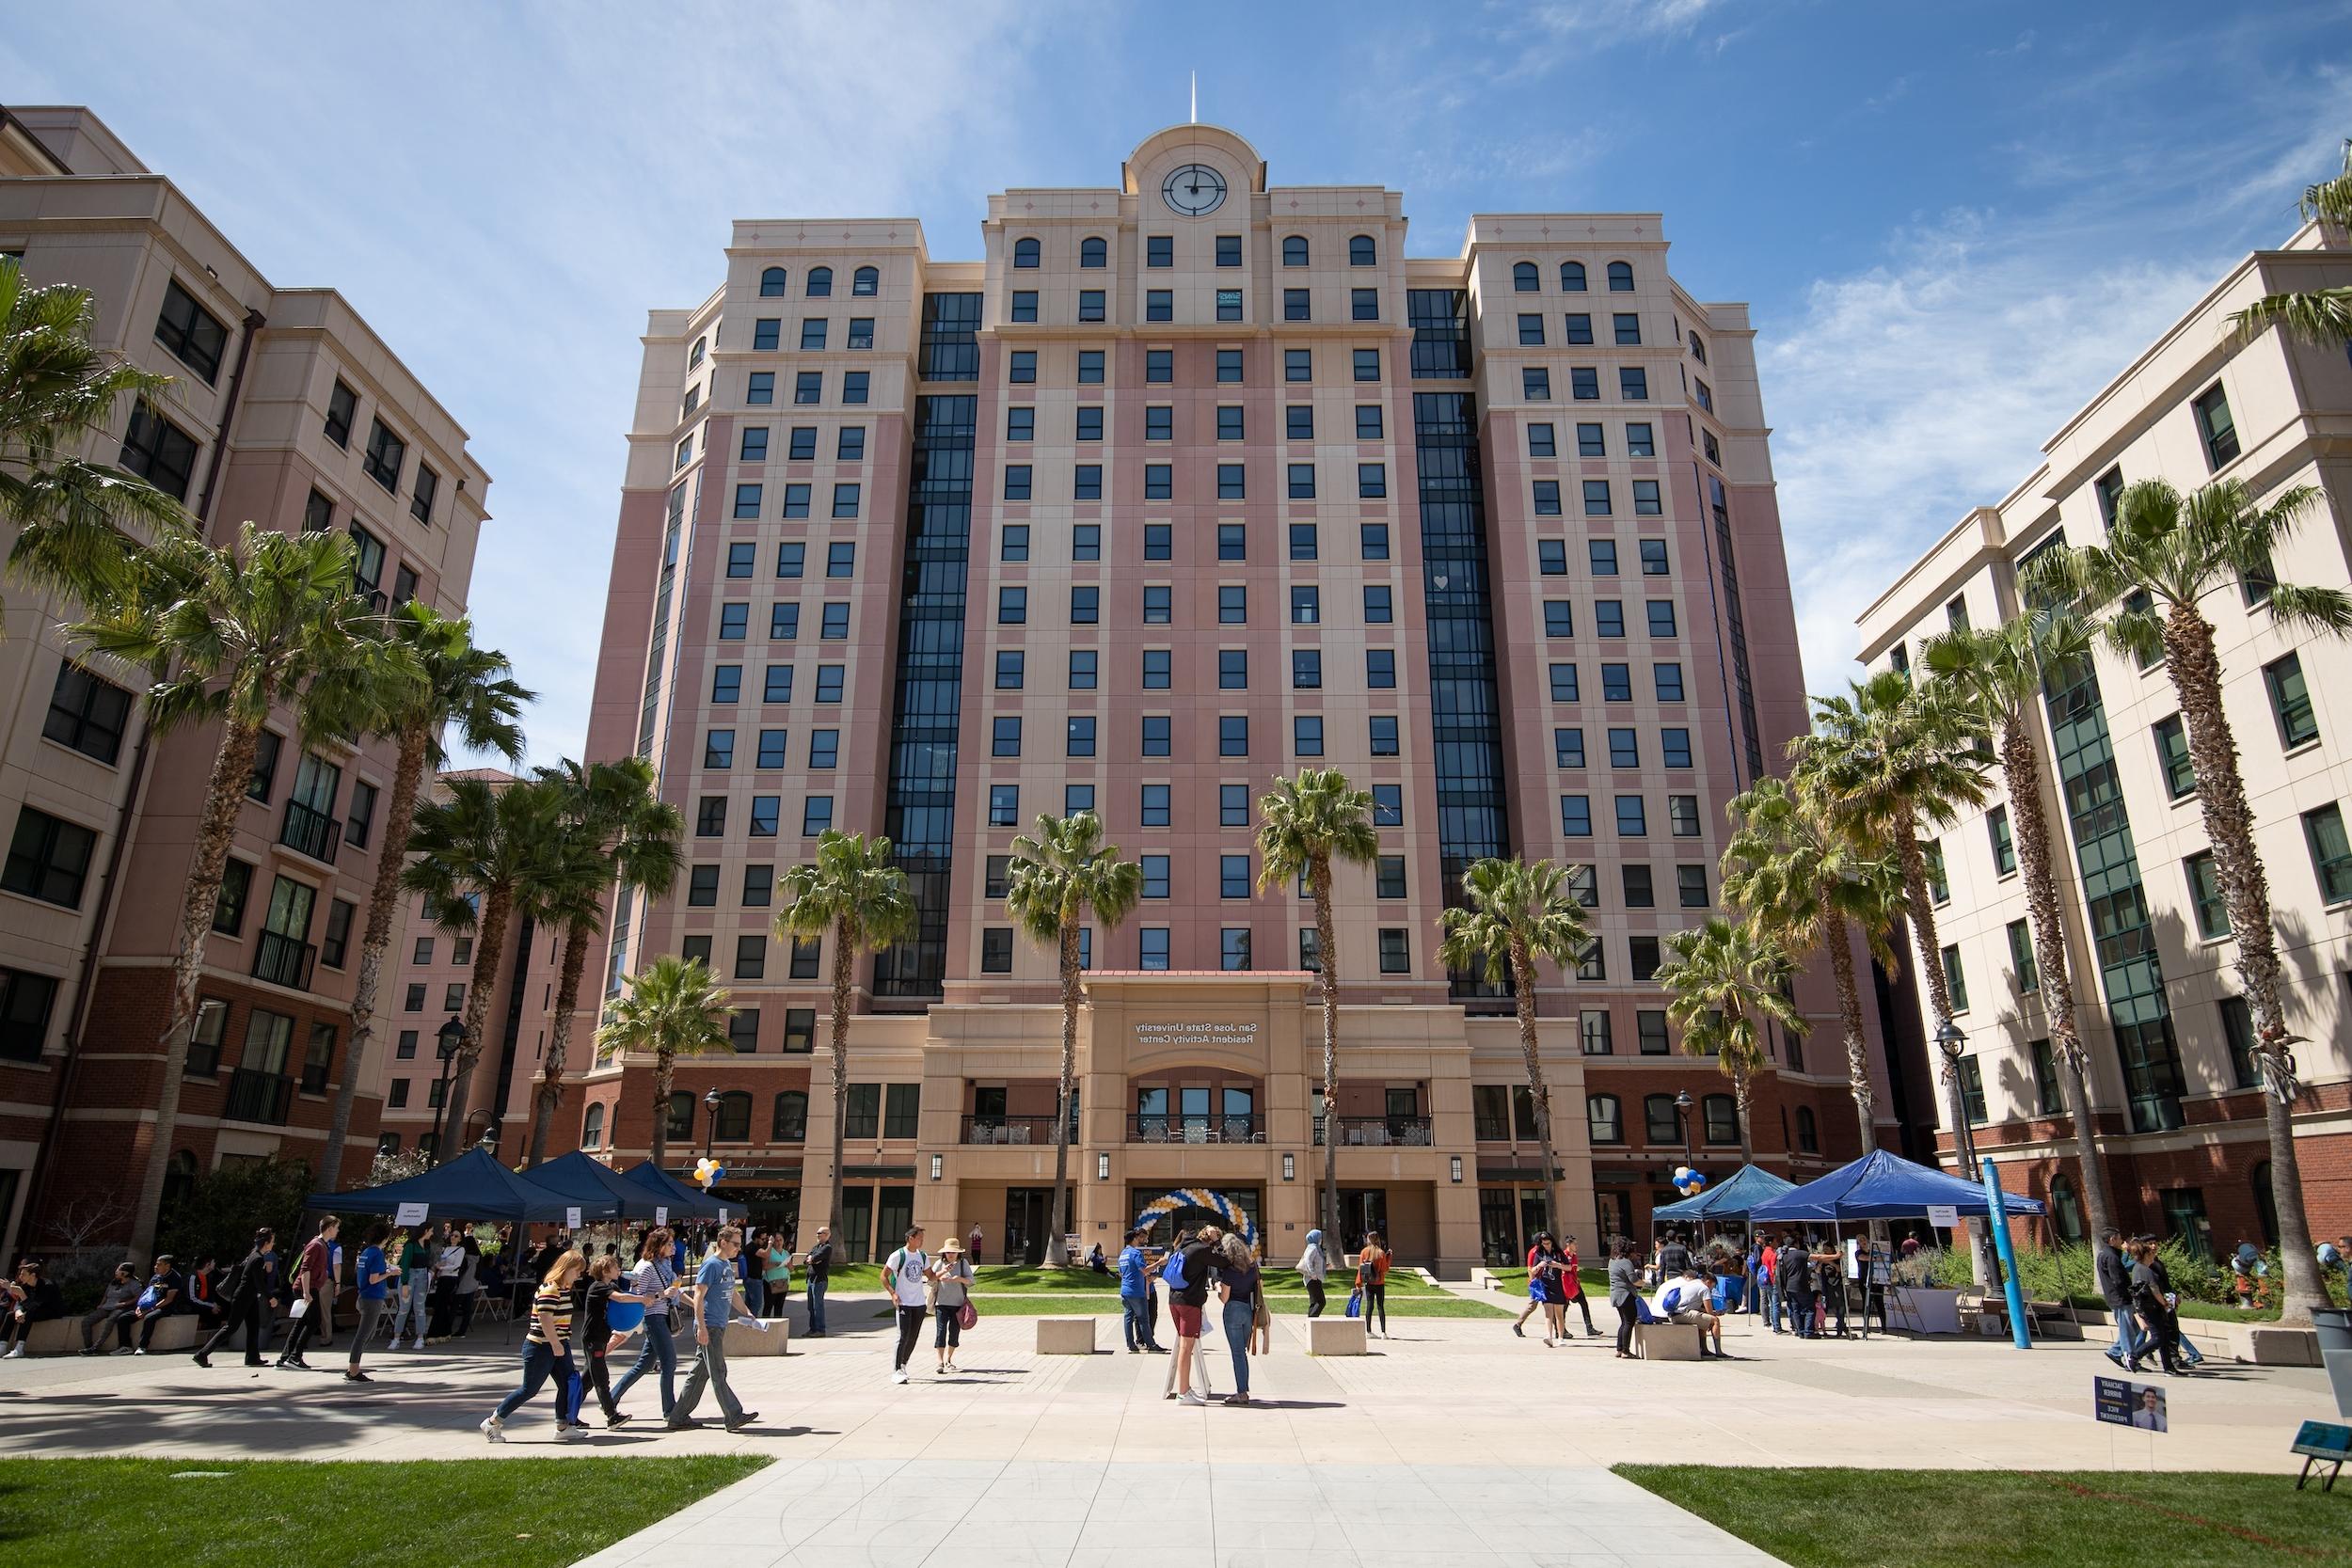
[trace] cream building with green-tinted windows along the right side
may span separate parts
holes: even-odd
[[[2319,226],[2230,268],[2058,428],[2034,473],[1962,517],[1863,611],[1863,661],[1907,670],[1926,639],[2016,616],[2025,564],[2060,541],[2098,543],[2138,480],[2169,480],[2183,494],[2241,480],[2265,503],[2293,484],[2319,487],[2317,510],[2277,552],[2277,581],[2343,588],[2352,364],[2343,348],[2277,331],[2239,346],[2230,315],[2263,294],[2345,282],[2345,237]],[[2263,581],[2199,609],[2216,630],[2270,875],[2281,1001],[2300,1037],[2303,1194],[2314,1237],[2338,1237],[2352,1229],[2352,710],[2328,693],[2336,675],[2352,691],[2352,649],[2274,625]],[[2126,1232],[2220,1251],[2274,1241],[2253,1025],[2164,663],[2100,649],[2049,691],[2032,741],[2114,1218]],[[1936,936],[1966,1034],[1962,1103],[1978,1152],[2013,1171],[2013,1190],[2051,1199],[2058,1232],[2079,1237],[2082,1161],[2027,936],[2013,802],[1999,771],[1992,785],[1980,811],[1936,830],[1931,853]],[[1924,987],[1917,1006],[1933,1034]],[[1945,1095],[1915,1098],[1933,1105],[1950,1147]]]

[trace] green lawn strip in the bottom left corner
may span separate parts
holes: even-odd
[[[557,1568],[767,1462],[0,1460],[0,1540],[73,1568],[402,1563],[430,1540],[473,1568]]]

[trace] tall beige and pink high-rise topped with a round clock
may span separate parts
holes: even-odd
[[[1435,954],[1479,856],[1585,867],[1599,940],[1536,997],[1566,1229],[1646,1229],[1686,1143],[1736,1168],[1651,971],[1804,724],[1748,310],[1668,275],[1653,214],[1404,240],[1397,190],[1270,186],[1183,125],[1117,183],[993,195],[981,261],[913,219],[741,221],[720,287],[652,315],[588,750],[654,759],[689,830],[607,987],[682,952],[739,1006],[736,1056],[677,1067],[673,1166],[713,1150],[802,1244],[840,1185],[854,1258],[910,1220],[1035,1255],[1061,1011],[1004,889],[1014,835],[1089,809],[1143,900],[1082,940],[1084,1241],[1207,1190],[1296,1251],[1329,1133],[1348,1246],[1519,1258],[1512,1001]],[[1305,766],[1381,830],[1338,870],[1334,1128],[1312,907],[1254,853]],[[920,905],[856,961],[840,1173],[833,954],[769,936],[826,827],[889,835]],[[1858,1128],[1825,971],[1799,1004],[1828,1027],[1773,1039],[1752,1138],[1802,1175]],[[586,1072],[567,1143],[642,1154],[649,1074]]]

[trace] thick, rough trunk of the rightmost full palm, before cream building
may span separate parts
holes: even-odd
[[[2296,1159],[2296,1077],[2286,1048],[2286,1011],[2279,1006],[2279,945],[2270,924],[2270,877],[2253,849],[2253,813],[2246,780],[2237,771],[2237,736],[2220,705],[2220,658],[2213,628],[2192,604],[2164,616],[2164,668],[2180,693],[2180,719],[2190,731],[2197,769],[2197,809],[2213,844],[2213,872],[2230,905],[2237,938],[2237,976],[2253,1011],[2253,1060],[2263,1074],[2263,1126],[2270,1133],[2270,1204],[2279,1215],[2279,1262],[2286,1291],[2279,1321],[2303,1326],[2328,1293],[2312,1253],[2312,1222],[2303,1213],[2303,1166]]]

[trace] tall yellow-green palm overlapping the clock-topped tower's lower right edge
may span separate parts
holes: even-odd
[[[1903,917],[1903,870],[1893,856],[1860,849],[1839,832],[1811,783],[1799,771],[1795,780],[1759,778],[1752,790],[1731,797],[1724,903],[1745,910],[1790,952],[1828,950],[1846,1037],[1846,1086],[1867,1154],[1879,1143],[1879,1128],[1863,992],[1853,978],[1853,931],[1863,933],[1872,957],[1893,964],[1886,933]]]

